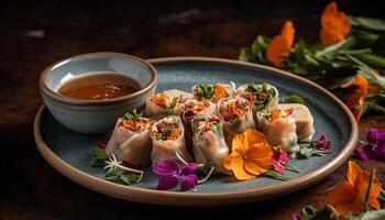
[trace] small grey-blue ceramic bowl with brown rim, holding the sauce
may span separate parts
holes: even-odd
[[[141,89],[108,100],[77,100],[57,92],[67,80],[97,72],[129,76],[138,80]],[[112,129],[127,111],[143,109],[155,92],[157,73],[148,62],[131,55],[90,53],[52,64],[43,70],[38,84],[43,100],[57,121],[73,131],[94,134]]]

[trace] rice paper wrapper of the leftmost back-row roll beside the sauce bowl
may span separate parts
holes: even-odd
[[[172,102],[173,98],[175,98],[175,97],[177,98],[176,106],[174,107],[174,110],[169,116],[180,116],[183,105],[187,100],[193,99],[193,94],[182,91],[178,89],[165,90],[162,94],[166,95],[169,98],[169,103]],[[154,96],[156,96],[156,95],[154,95]],[[153,119],[162,119],[162,118],[167,116],[167,112],[166,112],[165,108],[162,108],[161,106],[158,106],[152,101],[152,98],[154,96],[151,96],[147,98],[147,100],[145,102],[144,116],[153,118]]]

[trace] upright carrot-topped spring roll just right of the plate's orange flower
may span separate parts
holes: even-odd
[[[272,146],[280,145],[288,153],[299,151],[294,109],[274,108],[260,117],[260,130]]]

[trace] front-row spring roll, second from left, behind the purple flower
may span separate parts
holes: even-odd
[[[191,155],[187,152],[185,129],[180,117],[168,116],[155,122],[151,129],[153,150],[151,161],[153,166],[165,160],[178,161],[176,152],[186,162],[191,162]]]

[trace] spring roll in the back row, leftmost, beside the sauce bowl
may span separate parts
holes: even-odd
[[[193,94],[178,89],[165,90],[147,99],[144,114],[153,119],[180,116],[183,105],[189,99],[193,99]]]

